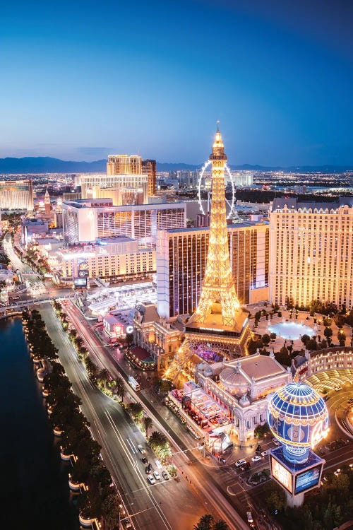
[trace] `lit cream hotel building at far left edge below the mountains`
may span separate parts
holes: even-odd
[[[0,210],[32,210],[32,180],[0,181]]]

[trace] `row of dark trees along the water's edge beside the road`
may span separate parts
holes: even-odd
[[[30,348],[36,355],[41,355],[40,345],[48,346],[52,341],[40,313],[35,310],[23,312],[23,324],[28,341],[30,338]],[[47,359],[48,370],[43,385],[50,422],[56,432],[61,432],[62,454],[73,457],[70,481],[88,486],[80,493],[80,514],[87,518],[97,517],[105,529],[113,529],[119,524],[120,514],[119,497],[112,487],[112,477],[100,457],[100,444],[92,440],[90,423],[80,411],[80,398],[71,389],[54,345],[49,351],[54,351],[55,355]]]

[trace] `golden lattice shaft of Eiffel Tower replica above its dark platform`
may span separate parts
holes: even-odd
[[[212,201],[210,241],[201,297],[189,324],[203,324],[211,314],[222,314],[224,326],[236,326],[239,300],[230,268],[227,216],[225,208],[225,165],[227,155],[220,134],[219,122],[210,154],[212,162]]]

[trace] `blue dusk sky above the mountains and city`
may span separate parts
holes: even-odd
[[[249,7],[251,6],[251,7]],[[0,157],[353,164],[351,0],[7,1]]]

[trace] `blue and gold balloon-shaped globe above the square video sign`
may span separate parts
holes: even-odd
[[[309,449],[327,434],[328,410],[309,384],[289,383],[270,399],[268,425],[289,461],[305,461]]]

